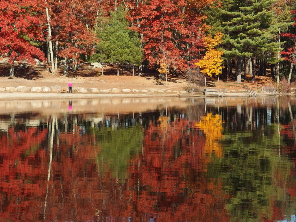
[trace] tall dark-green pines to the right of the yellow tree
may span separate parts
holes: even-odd
[[[252,82],[255,82],[256,59],[277,62],[281,43],[276,41],[279,28],[290,24],[277,20],[272,10],[276,0],[236,1],[223,0],[221,8],[210,9],[208,22],[214,31],[224,33],[224,56],[228,59],[228,70],[232,59],[236,60],[237,82],[241,82],[243,60],[252,66]],[[220,20],[220,21],[219,21]],[[250,68],[249,68],[250,69]]]

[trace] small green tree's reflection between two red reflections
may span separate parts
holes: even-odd
[[[142,147],[142,127],[103,127],[93,128],[93,131],[96,143],[101,147],[97,157],[100,177],[106,177],[106,173],[111,173],[112,178],[126,178],[128,160],[131,156],[137,155]]]

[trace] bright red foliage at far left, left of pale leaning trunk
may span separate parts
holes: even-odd
[[[30,41],[43,40],[40,27],[40,8],[33,0],[0,0],[0,56],[27,60],[44,60],[44,54]]]

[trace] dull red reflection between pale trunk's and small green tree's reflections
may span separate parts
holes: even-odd
[[[46,219],[92,221],[98,183],[96,152],[94,136],[79,131],[59,135],[59,147],[54,147]]]

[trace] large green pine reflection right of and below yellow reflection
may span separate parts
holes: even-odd
[[[271,219],[274,205],[291,211],[287,209],[289,196],[283,185],[289,180],[291,163],[278,150],[277,127],[224,131],[224,156],[209,165],[208,176],[223,178],[223,189],[230,197],[227,209],[231,221]]]

